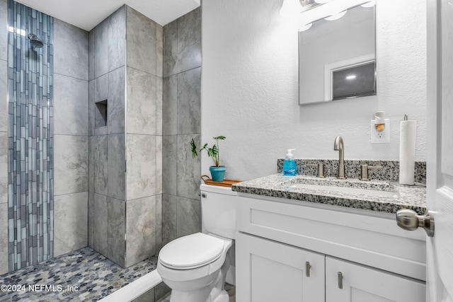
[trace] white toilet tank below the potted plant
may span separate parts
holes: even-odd
[[[237,194],[231,187],[200,185],[202,232],[236,238]]]

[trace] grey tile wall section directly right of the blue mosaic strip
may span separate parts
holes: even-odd
[[[88,32],[55,19],[54,255],[88,245]]]

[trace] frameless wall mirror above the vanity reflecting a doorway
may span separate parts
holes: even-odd
[[[310,16],[299,33],[299,105],[376,95],[374,6],[350,8],[333,21],[314,13],[323,6],[302,13]]]

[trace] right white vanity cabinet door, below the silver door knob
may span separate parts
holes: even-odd
[[[327,256],[326,302],[364,301],[424,302],[425,282]]]

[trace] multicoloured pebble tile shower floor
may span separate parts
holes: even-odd
[[[156,265],[157,257],[151,257],[122,269],[91,248],[82,248],[38,265],[1,275],[0,302],[99,301],[152,272]],[[12,292],[11,289],[16,286],[21,288]]]

